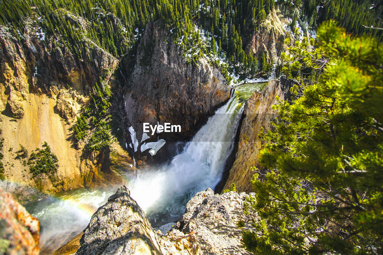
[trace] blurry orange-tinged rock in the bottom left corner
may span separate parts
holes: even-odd
[[[38,255],[39,239],[38,219],[9,193],[0,191],[0,254]]]

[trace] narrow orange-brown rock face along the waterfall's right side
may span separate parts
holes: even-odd
[[[251,177],[259,165],[259,151],[262,149],[262,140],[259,137],[262,129],[270,130],[270,121],[277,117],[272,109],[280,100],[290,98],[291,81],[282,77],[281,80],[270,80],[262,92],[255,91],[246,103],[239,135],[236,159],[230,169],[228,180],[224,189],[235,183],[238,191],[252,192]]]

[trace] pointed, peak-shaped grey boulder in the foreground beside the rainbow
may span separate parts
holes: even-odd
[[[93,214],[76,255],[162,254],[157,238],[128,188],[121,186]]]

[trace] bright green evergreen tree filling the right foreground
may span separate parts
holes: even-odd
[[[248,205],[260,220],[243,242],[255,254],[382,254],[383,46],[333,23],[318,39],[295,51],[301,70],[325,69],[275,106],[260,159],[269,172],[254,175]]]

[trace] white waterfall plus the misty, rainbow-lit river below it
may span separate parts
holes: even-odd
[[[218,184],[234,147],[243,105],[239,93],[233,92],[169,164],[151,172],[140,171],[129,183],[131,196],[153,227],[178,220],[195,193]],[[108,191],[74,190],[27,204],[27,210],[41,222],[43,250],[54,251],[81,232],[114,192],[115,187]]]

